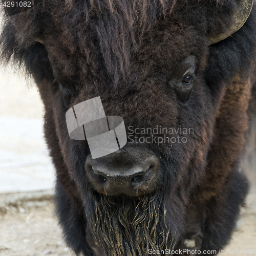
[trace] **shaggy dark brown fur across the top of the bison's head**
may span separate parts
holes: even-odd
[[[141,55],[143,43],[159,36],[163,40],[172,40],[173,49],[170,48],[168,54],[172,54],[175,64],[191,52],[184,49],[197,46],[203,51],[207,46],[207,32],[219,31],[224,25],[227,29],[230,23],[228,14],[236,5],[234,0],[41,0],[17,16],[16,28],[9,19],[5,20],[9,24],[2,34],[2,56],[10,60],[13,55],[15,62],[22,62],[28,56],[29,47],[30,52],[33,46],[40,48],[34,38],[41,38],[52,55],[50,64],[45,52],[45,58],[41,56],[40,59],[41,66],[54,66],[67,79],[77,78],[79,73],[81,80],[106,79],[107,76],[112,84],[118,84],[120,79],[130,77],[134,72],[131,62],[136,58],[136,52]],[[213,7],[222,8],[219,16],[211,15],[215,11]],[[176,38],[151,32],[160,33],[166,29]],[[148,50],[157,51],[153,47],[143,49],[148,54]],[[47,68],[33,72],[36,65],[26,63],[26,66],[29,73],[36,73],[36,79],[39,73],[48,75]]]

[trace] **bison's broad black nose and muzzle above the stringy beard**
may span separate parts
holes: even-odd
[[[95,190],[115,196],[139,196],[157,187],[159,161],[153,152],[138,149],[86,160],[86,172]]]

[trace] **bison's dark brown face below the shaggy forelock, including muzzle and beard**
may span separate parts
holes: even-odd
[[[202,45],[207,37],[199,38],[189,26],[178,27],[160,27],[145,34],[131,53],[126,71],[130,75],[116,84],[104,66],[94,74],[81,53],[65,53],[67,66],[60,68],[59,56],[64,55],[59,43],[48,47],[55,40],[50,35],[45,39],[55,78],[47,96],[52,102],[51,122],[56,125],[69,179],[84,203],[87,241],[97,255],[172,250],[184,228],[184,208],[191,191],[205,174],[221,94],[214,98],[205,82],[208,49]],[[177,45],[176,38],[188,34],[189,40]],[[84,46],[83,50],[94,48]],[[96,57],[102,58],[99,53]],[[69,75],[76,62],[81,67]],[[98,96],[106,115],[123,118],[127,143],[115,153],[92,159],[86,140],[69,137],[65,114]]]

